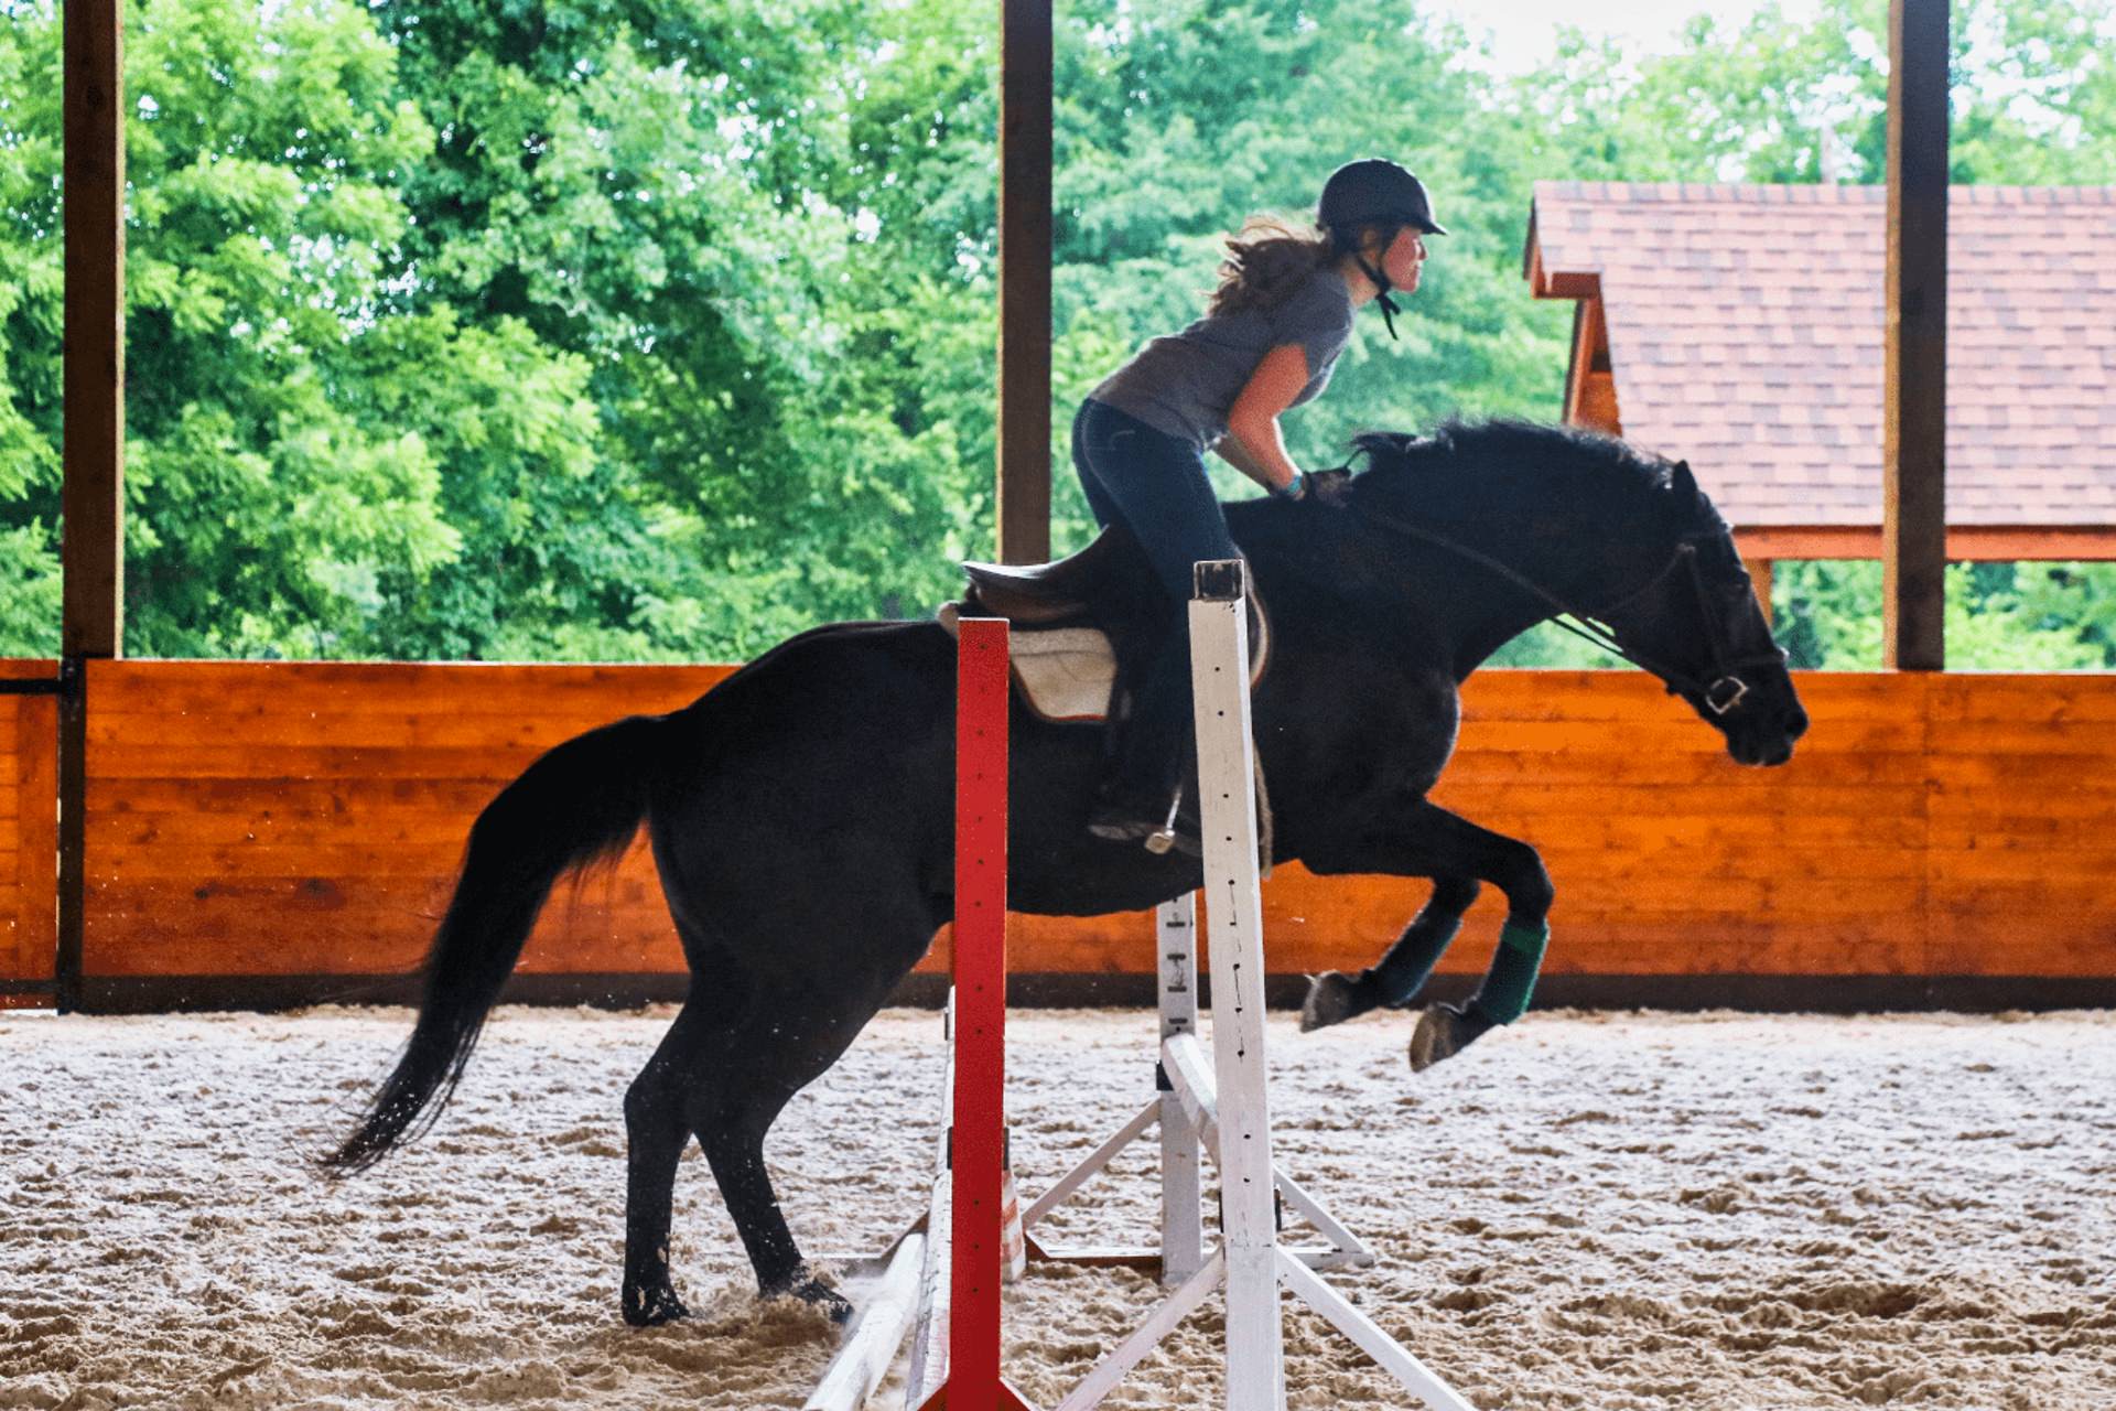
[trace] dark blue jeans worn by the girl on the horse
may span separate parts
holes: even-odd
[[[1073,470],[1105,529],[1121,523],[1153,563],[1166,601],[1162,643],[1132,694],[1117,732],[1105,800],[1166,812],[1183,781],[1191,740],[1189,633],[1191,565],[1236,558],[1204,455],[1179,436],[1096,400],[1073,417]],[[1160,819],[1155,817],[1155,823]]]

